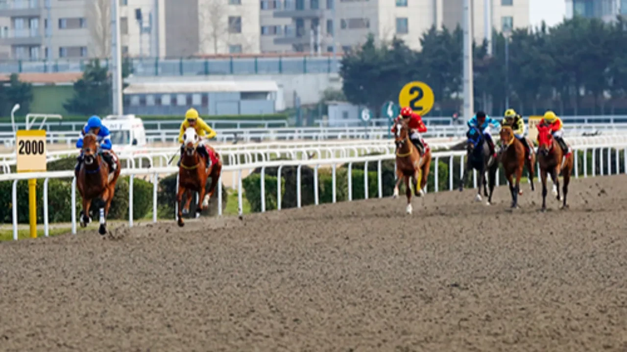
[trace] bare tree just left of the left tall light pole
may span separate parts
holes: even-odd
[[[111,0],[85,1],[90,53],[97,58],[111,55]]]

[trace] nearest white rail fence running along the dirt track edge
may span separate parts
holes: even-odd
[[[614,150],[615,158],[614,165],[612,163],[612,152]],[[623,158],[619,157],[619,152],[623,152]],[[587,162],[587,153],[592,153],[591,159],[591,173],[588,173],[588,162]],[[598,152],[598,153],[597,153]],[[584,153],[584,158],[582,165],[579,165],[578,156],[579,153]],[[596,155],[599,157],[596,157]],[[439,189],[440,180],[439,176],[439,162],[441,158],[448,158],[448,190],[454,190],[456,186],[453,184],[453,175],[457,172],[460,177],[463,175],[463,167],[460,167],[459,170],[455,170],[453,162],[453,157],[461,158],[461,165],[465,163],[465,152],[435,152],[432,155],[434,161],[435,171],[429,174],[429,177],[433,177],[435,182],[435,189],[433,192],[442,191]],[[599,168],[599,175],[611,175],[619,173],[621,168],[623,170],[627,170],[627,144],[608,144],[608,145],[583,145],[574,147],[574,157],[575,157],[575,165],[574,165],[574,177],[580,177],[580,173],[582,177],[595,177],[597,175],[596,168]],[[280,161],[272,161],[272,162],[259,162],[253,163],[250,165],[231,165],[223,168],[223,171],[231,171],[236,172],[238,174],[238,209],[240,209],[240,214],[243,209],[243,189],[242,189],[242,171],[246,168],[261,168],[261,178],[260,178],[260,200],[261,200],[261,211],[265,211],[265,177],[263,174],[265,173],[266,168],[269,167],[278,167],[277,171],[277,185],[269,186],[269,187],[277,187],[277,206],[278,209],[281,209],[281,169],[283,167],[297,167],[297,187],[294,190],[297,193],[297,207],[301,207],[301,182],[302,178],[300,177],[300,170],[303,166],[314,166],[314,199],[315,204],[319,204],[319,185],[317,180],[318,177],[318,169],[322,165],[329,165],[332,168],[332,202],[337,202],[337,165],[347,163],[348,165],[348,200],[352,200],[352,164],[358,162],[364,162],[364,192],[365,198],[368,199],[371,195],[368,194],[368,163],[377,163],[377,194],[373,195],[374,197],[383,197],[383,185],[382,185],[382,162],[384,160],[393,160],[395,158],[392,154],[387,155],[373,155],[367,157],[349,157],[349,158],[329,158],[324,160],[280,160]],[[579,172],[579,168],[582,168],[583,172]],[[157,188],[159,184],[159,175],[164,173],[175,173],[178,172],[178,168],[176,167],[166,167],[166,168],[152,168],[152,169],[130,169],[126,168],[122,170],[122,175],[129,175],[129,227],[134,225],[133,220],[133,180],[135,176],[138,175],[150,175],[150,179],[152,180],[153,189],[152,189],[152,221],[157,222]],[[539,173],[539,172],[538,172]],[[0,175],[0,182],[3,181],[12,181],[13,189],[12,189],[12,204],[18,204],[18,192],[17,192],[17,184],[18,180],[28,180],[28,179],[43,179],[43,221],[44,221],[44,234],[45,236],[49,236],[50,234],[50,224],[48,223],[48,181],[50,179],[72,179],[71,185],[71,232],[76,234],[76,179],[74,177],[74,173],[72,171],[57,171],[57,172],[43,172],[43,173],[12,173],[6,175]],[[477,173],[474,173],[473,177],[474,187],[477,187]],[[539,182],[539,181],[536,181]],[[497,174],[497,185],[500,184]],[[218,182],[218,215],[223,214],[222,208],[222,180],[220,179]],[[18,239],[18,212],[17,207],[13,207],[13,239]],[[172,217],[174,219],[174,217]]]

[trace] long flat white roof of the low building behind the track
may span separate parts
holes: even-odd
[[[222,93],[241,91],[278,91],[275,81],[196,81],[131,83],[124,94]]]

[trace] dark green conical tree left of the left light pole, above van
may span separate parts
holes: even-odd
[[[80,115],[106,115],[111,111],[111,88],[107,68],[100,66],[100,60],[92,60],[74,83],[74,96],[63,107]]]

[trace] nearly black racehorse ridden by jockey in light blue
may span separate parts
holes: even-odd
[[[486,143],[483,133],[476,127],[470,128],[466,133],[466,166],[464,168],[464,175],[460,180],[460,192],[464,189],[468,173],[471,170],[477,170],[479,173],[479,184],[477,187],[477,202],[481,201],[481,185],[483,184],[483,194],[488,197],[487,205],[492,204],[492,192],[494,192],[494,185],[496,183],[496,176],[498,170],[498,162],[495,160],[492,164],[488,165],[490,160],[490,146]],[[485,173],[488,173],[488,180],[485,178]],[[490,184],[490,193],[488,194],[487,184]]]

